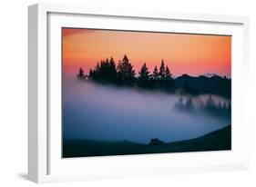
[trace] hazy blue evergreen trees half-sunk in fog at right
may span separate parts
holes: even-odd
[[[191,97],[184,100],[182,97],[179,98],[179,102],[175,104],[175,108],[182,111],[203,111],[211,114],[218,114],[219,116],[230,116],[231,104],[222,102],[215,103],[212,96],[204,102],[200,102],[197,106]]]

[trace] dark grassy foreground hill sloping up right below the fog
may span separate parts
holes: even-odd
[[[231,127],[229,125],[215,132],[200,136],[199,138],[174,143],[164,143],[161,145],[148,145],[129,141],[68,140],[63,143],[63,157],[202,152],[230,149]]]

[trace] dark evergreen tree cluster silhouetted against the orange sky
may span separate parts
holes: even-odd
[[[155,66],[150,74],[147,64],[144,63],[136,76],[133,65],[129,63],[128,56],[125,54],[123,59],[116,65],[114,59],[101,60],[89,74],[84,74],[82,68],[79,69],[77,77],[80,79],[88,78],[101,83],[138,86],[143,88],[158,88],[167,91],[173,90],[174,78],[170,74],[169,66],[161,61],[159,70]]]

